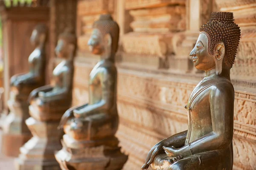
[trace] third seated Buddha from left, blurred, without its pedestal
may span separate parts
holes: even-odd
[[[113,137],[118,126],[114,59],[119,26],[110,15],[101,15],[93,28],[88,45],[93,54],[101,55],[101,60],[90,72],[89,103],[68,109],[60,123],[67,136],[75,140]]]

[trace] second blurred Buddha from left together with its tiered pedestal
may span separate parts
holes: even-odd
[[[61,63],[53,70],[51,84],[34,89],[29,96],[30,118],[26,125],[33,137],[20,148],[19,170],[58,170],[55,150],[61,149],[63,135],[58,124],[64,110],[71,106],[73,83],[73,57],[76,36],[67,29],[59,36],[55,52]]]

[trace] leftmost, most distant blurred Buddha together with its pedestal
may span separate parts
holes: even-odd
[[[47,27],[38,24],[32,32],[31,43],[35,50],[29,56],[29,72],[20,73],[11,78],[11,91],[8,101],[9,115],[3,121],[3,153],[17,157],[19,148],[31,138],[25,124],[29,118],[29,93],[45,81],[45,43]]]

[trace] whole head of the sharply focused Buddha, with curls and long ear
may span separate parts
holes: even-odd
[[[195,68],[209,71],[231,69],[240,40],[240,28],[234,23],[232,12],[212,12],[209,21],[201,26],[200,35],[192,49]]]

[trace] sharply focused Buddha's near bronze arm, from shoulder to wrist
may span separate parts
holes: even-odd
[[[210,97],[212,132],[189,144],[192,154],[228,147],[233,139],[234,91],[227,83],[213,87]]]

